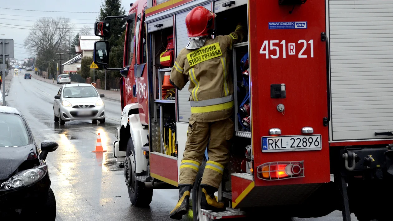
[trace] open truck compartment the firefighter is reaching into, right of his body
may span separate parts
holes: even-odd
[[[248,130],[244,129],[241,126],[241,121],[245,115],[241,114],[240,105],[244,98],[247,95],[247,91],[249,90],[250,80],[248,77],[245,77],[246,85],[242,82],[243,80],[243,71],[248,69],[248,65],[244,66],[241,63],[244,55],[248,53],[248,7],[247,0],[236,0],[235,4],[231,4],[228,6],[227,2],[233,1],[223,1],[219,0],[213,3],[214,12],[217,14],[215,19],[215,27],[216,27],[216,35],[229,35],[233,31],[235,31],[236,26],[238,24],[242,24],[244,28],[244,37],[241,43],[234,44],[232,47],[230,68],[228,69],[228,74],[232,76],[233,86],[234,86],[234,114],[233,121],[235,123],[235,137],[233,137],[230,148],[230,159],[229,163],[226,167],[226,172],[224,172],[222,177],[222,183],[219,191],[219,199],[222,201],[226,201],[225,199],[231,199],[232,197],[232,178],[233,174],[241,174],[248,173],[252,174],[252,158],[246,157],[247,154],[251,155],[251,132],[250,128]],[[227,6],[222,6],[226,4]],[[234,16],[236,15],[236,16]],[[248,61],[247,61],[248,62]],[[243,70],[243,67],[246,70]],[[242,86],[243,85],[243,86]],[[249,94],[249,93],[248,93]],[[250,103],[250,99],[247,100],[246,104]],[[249,109],[249,113],[250,113]],[[249,114],[250,115],[250,114]],[[239,116],[241,120],[239,121]],[[251,124],[250,124],[251,125]],[[246,155],[244,154],[244,150],[248,150]]]

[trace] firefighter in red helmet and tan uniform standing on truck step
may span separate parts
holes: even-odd
[[[171,71],[170,82],[177,89],[188,88],[191,102],[187,141],[180,164],[179,201],[170,217],[182,219],[188,213],[189,196],[198,168],[208,146],[209,160],[202,178],[201,208],[224,211],[214,193],[221,183],[229,159],[228,141],[233,136],[233,82],[229,76],[232,45],[242,41],[243,28],[211,38],[215,14],[198,6],[185,18],[189,42],[180,51]]]

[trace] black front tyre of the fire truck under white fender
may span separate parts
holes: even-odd
[[[134,142],[132,142],[132,138],[130,137],[127,143],[127,152],[123,168],[128,195],[132,205],[147,207],[150,205],[151,198],[153,197],[153,188],[146,188],[143,182],[135,179],[136,171],[134,153]]]

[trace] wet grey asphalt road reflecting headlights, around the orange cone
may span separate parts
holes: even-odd
[[[25,80],[24,73],[22,70],[18,77],[13,77],[7,104],[25,115],[37,143],[43,140],[59,143],[59,148],[47,158],[57,201],[56,220],[173,220],[168,215],[177,203],[178,190],[154,190],[149,208],[137,208],[130,203],[123,170],[112,155],[121,113],[118,102],[104,99],[105,124],[71,121],[59,126],[53,121],[53,101],[59,86],[37,80],[37,75]],[[105,153],[92,153],[98,133]],[[183,220],[191,221],[192,213]],[[294,220],[341,221],[342,217],[336,211],[326,217]],[[356,218],[353,216],[352,220]]]

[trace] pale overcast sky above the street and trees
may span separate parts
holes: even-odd
[[[102,4],[101,0],[0,0],[0,2],[0,7],[2,7],[0,8],[0,38],[14,39],[14,57],[18,60],[33,56],[24,49],[23,42],[29,34],[29,27],[39,17],[61,16],[70,18],[70,22],[73,23],[73,28],[75,28],[73,29],[73,34],[76,35],[77,28],[81,28],[84,25],[94,28],[94,22],[97,15],[99,15],[99,9]],[[126,14],[128,14],[130,3],[135,2],[135,0],[121,0],[121,2]],[[22,9],[30,11],[24,11]],[[59,13],[31,10],[96,13]],[[93,31],[91,34],[93,35]]]

